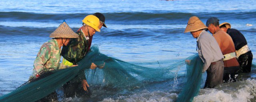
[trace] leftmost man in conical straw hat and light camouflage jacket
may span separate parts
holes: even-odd
[[[50,34],[50,37],[53,37],[53,39],[44,43],[36,56],[33,75],[30,76],[30,80],[39,78],[40,75],[44,74],[44,71],[58,69],[61,58],[61,47],[68,45],[71,38],[78,38],[78,35],[64,21],[53,33]],[[57,94],[56,92],[52,92],[40,101],[58,101]]]

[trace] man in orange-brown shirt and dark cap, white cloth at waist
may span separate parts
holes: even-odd
[[[218,42],[220,50],[224,55],[223,82],[236,82],[239,63],[236,60],[236,49],[232,38],[225,31],[220,29],[219,20],[216,17],[209,18],[206,22],[206,26]]]

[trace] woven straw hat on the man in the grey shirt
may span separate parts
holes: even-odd
[[[189,18],[188,24],[186,26],[184,33],[198,31],[200,29],[205,29],[205,28],[208,28],[208,27],[206,27],[198,17],[193,16]]]

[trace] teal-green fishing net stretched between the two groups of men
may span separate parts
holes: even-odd
[[[90,84],[90,91],[85,93],[89,95],[84,98],[99,98],[98,100],[102,100],[104,96],[114,98],[157,84],[159,88],[156,90],[174,90],[179,93],[177,101],[189,102],[198,94],[203,63],[198,55],[191,56],[188,60],[191,60],[188,65],[185,64],[185,60],[179,59],[168,67],[153,65],[150,67],[150,64],[147,64],[148,67],[142,67],[108,57],[100,53],[97,46],[93,46],[78,62],[78,66],[51,71],[41,79],[29,81],[1,96],[0,102],[34,102],[55,91],[58,93],[58,101],[84,101],[81,98],[67,100],[63,92],[59,91],[65,83],[79,79],[79,75],[83,74]],[[104,68],[92,70],[91,63],[104,64]]]

